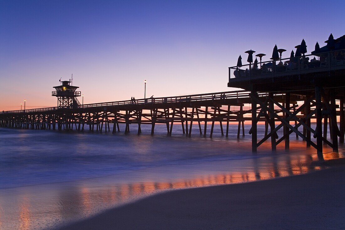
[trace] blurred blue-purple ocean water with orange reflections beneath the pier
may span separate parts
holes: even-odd
[[[237,125],[221,136],[191,137],[174,124],[172,136],[165,125],[130,126],[130,133],[16,130],[0,128],[0,229],[54,229],[106,209],[169,189],[242,183],[307,173],[321,169],[313,164],[316,151],[290,135],[270,150],[270,139],[251,152],[250,125],[245,137]],[[111,127],[110,127],[111,130]],[[208,132],[210,127],[208,127]],[[224,125],[225,130],[225,125]],[[258,125],[258,140],[264,125]],[[209,136],[209,133],[208,133]],[[282,136],[282,132],[278,133]],[[325,146],[325,159],[344,157]]]

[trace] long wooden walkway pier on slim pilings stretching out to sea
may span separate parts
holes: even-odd
[[[258,93],[265,100],[266,93]],[[275,94],[275,100],[282,103],[283,94]],[[292,95],[293,104],[304,98]],[[211,94],[185,95],[176,97],[146,98],[135,101],[106,102],[70,107],[49,107],[6,111],[0,113],[0,127],[26,128],[35,130],[77,130],[91,132],[120,132],[119,124],[126,124],[124,132],[130,131],[130,124],[151,125],[151,135],[155,124],[166,124],[167,134],[171,135],[173,126],[181,125],[183,133],[191,136],[193,124],[200,135],[213,136],[215,125],[220,126],[221,135],[228,136],[229,123],[238,124],[237,137],[244,132],[244,121],[250,121],[252,110],[245,107],[251,102],[250,92],[245,90]],[[278,110],[277,110],[278,112]],[[261,121],[266,121],[264,118]],[[110,125],[112,130],[110,130]],[[211,128],[207,130],[207,124]],[[225,126],[225,131],[223,126]]]

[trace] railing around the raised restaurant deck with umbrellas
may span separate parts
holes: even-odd
[[[307,58],[310,58],[310,60],[307,60]],[[284,65],[284,63],[286,64]],[[254,63],[242,65],[241,67],[229,67],[229,82],[231,78],[255,79],[260,76],[300,75],[343,68],[345,68],[345,49],[340,49],[275,61],[262,61],[257,63],[257,67],[254,67]]]

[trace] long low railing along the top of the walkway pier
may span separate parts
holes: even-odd
[[[178,102],[197,102],[207,100],[219,100],[219,99],[235,99],[235,98],[249,98],[250,92],[246,90],[230,91],[230,92],[218,92],[208,94],[193,94],[174,97],[150,97],[135,100],[122,100],[116,102],[102,102],[79,105],[78,108],[90,108],[90,107],[107,107],[107,106],[121,106],[121,105],[145,105],[145,104],[163,104],[163,103],[178,103]],[[259,96],[267,96],[267,93],[259,93]],[[32,112],[45,112],[55,111],[62,109],[60,107],[47,107],[47,108],[35,108],[35,109],[22,109],[4,111],[1,113],[32,113]],[[66,109],[66,108],[63,108]],[[67,108],[68,109],[68,108]]]

